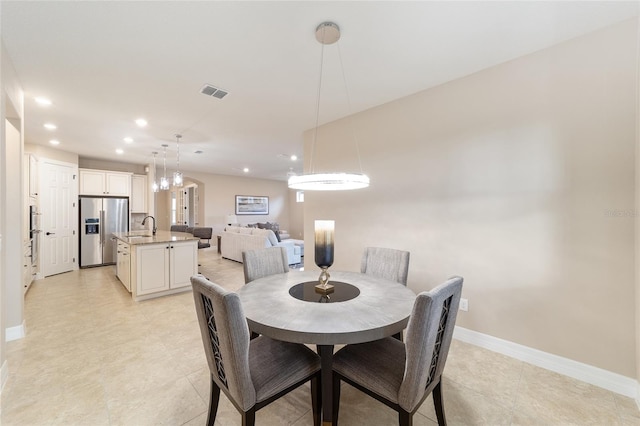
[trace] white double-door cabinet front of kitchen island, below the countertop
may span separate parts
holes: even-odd
[[[132,251],[134,247],[131,289],[135,300],[184,291],[191,285],[191,276],[198,271],[197,241],[133,245]]]

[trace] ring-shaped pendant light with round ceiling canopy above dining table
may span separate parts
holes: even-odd
[[[324,59],[324,46],[336,43],[340,39],[340,28],[333,22],[323,22],[316,28],[316,40],[322,44],[320,54],[320,81],[318,83],[318,102],[316,105],[316,127],[313,134],[311,144],[311,158],[309,160],[309,173],[298,176],[289,176],[288,185],[291,189],[299,189],[305,191],[339,191],[348,189],[361,189],[369,186],[369,177],[362,173],[362,165],[360,164],[360,153],[358,150],[358,142],[354,140],[356,145],[356,153],[358,157],[358,165],[360,173],[316,173],[313,164],[313,154],[316,149],[316,139],[318,136],[318,123],[320,117],[320,94],[322,88],[322,66]],[[338,53],[340,49],[338,48]],[[347,100],[349,92],[347,91],[347,82],[344,76],[344,66],[342,57],[340,56],[340,68],[342,78],[344,80],[345,92],[347,92]],[[355,138],[354,138],[355,139]]]

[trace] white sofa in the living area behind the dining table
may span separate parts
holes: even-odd
[[[265,247],[284,247],[287,250],[289,265],[301,262],[301,249],[293,241],[278,241],[271,229],[243,228],[227,226],[221,235],[221,253],[225,259],[242,263],[242,252]]]

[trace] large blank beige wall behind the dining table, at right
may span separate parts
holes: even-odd
[[[625,22],[355,115],[372,184],[308,191],[307,246],[314,219],[335,219],[336,269],[366,246],[410,250],[413,290],[465,278],[458,325],[636,377],[620,213],[635,206],[636,38]],[[321,129],[316,166],[353,159],[350,126]]]

